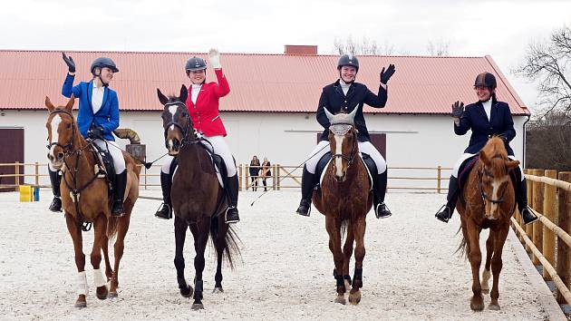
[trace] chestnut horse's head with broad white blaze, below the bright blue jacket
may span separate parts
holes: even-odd
[[[63,166],[63,157],[73,151],[73,141],[78,131],[73,119],[72,109],[75,98],[72,97],[65,106],[53,106],[50,99],[45,96],[45,106],[50,112],[45,127],[48,131],[47,148],[48,160],[53,169],[59,170]]]

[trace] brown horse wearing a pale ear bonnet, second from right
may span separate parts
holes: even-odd
[[[373,207],[371,182],[359,154],[357,131],[354,128],[354,111],[333,115],[327,110],[329,145],[332,160],[325,169],[321,193],[314,192],[315,208],[325,216],[325,229],[329,234],[329,249],[334,256],[334,277],[337,297],[335,302],[345,304],[344,294],[350,286],[349,262],[355,243],[355,268],[349,302],[361,301],[363,287],[364,233],[366,217]],[[341,248],[346,231],[345,244]]]

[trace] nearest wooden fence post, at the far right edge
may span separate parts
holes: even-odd
[[[571,182],[571,171],[559,173],[559,180]],[[559,219],[558,227],[571,234],[571,191],[557,189],[559,194]],[[557,238],[557,275],[561,277],[566,287],[571,287],[571,248],[565,241]],[[556,290],[558,303],[566,303],[565,297]]]

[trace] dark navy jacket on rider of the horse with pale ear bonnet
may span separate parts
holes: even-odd
[[[319,107],[317,107],[315,117],[317,118],[317,122],[324,127],[321,141],[328,141],[329,126],[331,125],[324,112],[324,108],[333,114],[342,111],[349,113],[353,112],[355,108],[358,108],[359,110],[355,114],[354,119],[355,128],[359,131],[357,133],[357,140],[371,141],[369,131],[367,131],[367,124],[364,121],[363,104],[366,103],[374,108],[384,107],[384,104],[387,102],[387,91],[382,88],[382,85],[379,85],[379,93],[375,95],[363,83],[352,83],[347,95],[345,95],[339,82],[340,80],[338,79],[335,83],[326,85],[319,98]]]

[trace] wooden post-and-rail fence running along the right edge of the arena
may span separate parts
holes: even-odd
[[[526,178],[528,203],[539,219],[523,227],[517,212],[514,230],[544,279],[554,282],[557,302],[571,305],[571,172],[526,170]]]

